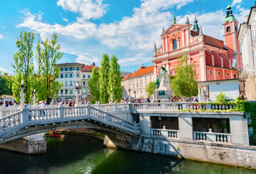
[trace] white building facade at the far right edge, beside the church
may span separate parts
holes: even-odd
[[[243,68],[239,78],[244,80],[245,94],[248,100],[256,99],[256,6],[253,6],[250,15],[244,17],[240,25],[238,39],[241,42]]]

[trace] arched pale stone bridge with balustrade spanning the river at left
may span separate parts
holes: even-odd
[[[77,127],[117,134],[128,141],[140,134],[140,123],[128,122],[91,105],[44,109],[28,109],[24,105],[19,112],[1,118],[0,126],[0,144],[31,134]]]

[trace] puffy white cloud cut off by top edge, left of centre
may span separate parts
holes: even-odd
[[[72,11],[74,13],[81,13],[84,19],[100,18],[106,13],[107,4],[102,4],[102,0],[59,0],[58,6],[64,10]]]

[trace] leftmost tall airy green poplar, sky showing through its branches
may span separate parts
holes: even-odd
[[[35,79],[33,65],[33,41],[34,33],[20,31],[16,41],[18,51],[13,55],[12,64],[15,75],[12,77],[12,92],[16,101],[20,100],[20,82],[24,80],[25,103],[29,103],[33,93],[32,83]]]

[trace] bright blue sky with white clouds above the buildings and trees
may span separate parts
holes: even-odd
[[[64,52],[61,62],[99,66],[102,54],[116,55],[122,71],[134,72],[143,63],[152,65],[154,43],[161,45],[161,31],[189,17],[204,34],[222,40],[222,23],[228,2],[220,0],[3,0],[0,6],[0,71],[12,72],[15,41],[20,30],[57,33]],[[254,1],[230,0],[238,22],[248,15]],[[35,40],[36,44],[36,40]]]

